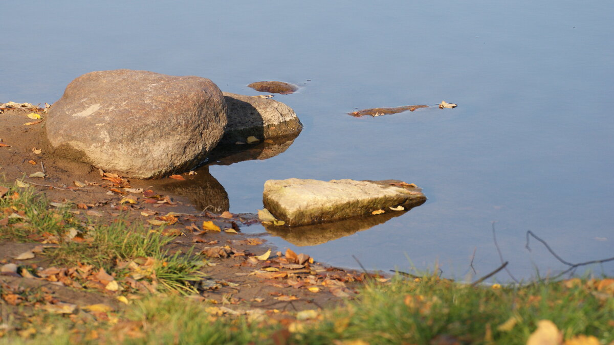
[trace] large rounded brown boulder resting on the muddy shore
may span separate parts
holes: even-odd
[[[147,179],[201,163],[222,138],[226,113],[209,79],[118,69],[72,80],[45,129],[57,155]]]

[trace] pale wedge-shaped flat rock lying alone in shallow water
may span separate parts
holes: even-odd
[[[370,216],[380,209],[398,212],[389,207],[410,209],[426,201],[420,188],[400,184],[398,180],[268,180],[263,204],[275,217],[294,227]]]

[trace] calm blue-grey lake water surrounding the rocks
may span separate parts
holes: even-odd
[[[256,95],[258,80],[304,130],[266,160],[212,165],[230,211],[262,208],[267,179],[400,179],[429,200],[365,231],[281,249],[333,265],[500,265],[518,279],[614,256],[614,2],[21,1],[3,6],[0,103],[53,103],[75,77],[145,69]],[[457,103],[354,118],[370,107]],[[262,227],[245,231],[263,232]],[[614,274],[614,264],[592,267]],[[509,281],[506,273],[499,281]]]

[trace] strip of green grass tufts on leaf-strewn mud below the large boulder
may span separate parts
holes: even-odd
[[[54,265],[83,263],[111,273],[117,270],[115,265],[118,260],[152,257],[156,261],[155,276],[163,290],[184,293],[194,292],[191,282],[199,281],[204,276],[200,269],[205,262],[193,258],[191,250],[187,254],[168,253],[165,246],[172,238],[161,236],[161,228],[152,231],[141,222],[129,223],[121,217],[108,224],[95,220],[82,221],[69,212],[70,205],[54,207],[34,188],[7,187],[10,191],[0,199],[0,211],[6,215],[21,211],[26,219],[9,219],[9,226],[0,227],[0,240],[25,242],[33,241],[33,236],[54,238],[53,242],[58,246],[45,250]],[[68,239],[66,236],[71,230],[76,230],[85,241]]]

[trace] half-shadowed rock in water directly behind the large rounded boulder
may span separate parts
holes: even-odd
[[[279,136],[295,136],[303,129],[291,107],[270,98],[224,92],[228,124],[220,144],[246,142],[250,136],[260,141]]]

